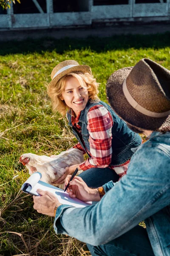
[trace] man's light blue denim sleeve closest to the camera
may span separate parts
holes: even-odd
[[[139,149],[131,159],[127,175],[97,204],[85,208],[62,205],[57,209],[56,233],[74,236],[94,246],[121,236],[170,204],[169,166],[170,155],[165,151],[152,147]]]

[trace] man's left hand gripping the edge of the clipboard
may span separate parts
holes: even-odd
[[[51,192],[43,191],[41,189],[37,189],[37,192],[40,196],[33,196],[34,209],[39,213],[54,217],[55,206],[59,207],[61,205],[57,197]]]

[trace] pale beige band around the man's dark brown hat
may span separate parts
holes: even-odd
[[[133,97],[130,95],[130,93],[129,93],[128,89],[127,89],[126,79],[123,81],[123,93],[125,95],[125,98],[129,102],[129,104],[133,108],[135,108],[137,111],[139,111],[140,113],[142,113],[142,114],[144,114],[146,116],[164,117],[164,116],[168,116],[170,114],[170,110],[166,111],[166,112],[162,112],[162,113],[156,113],[156,112],[149,111],[146,108],[143,108],[141,105],[139,105],[139,103],[136,102],[136,100],[133,99]]]

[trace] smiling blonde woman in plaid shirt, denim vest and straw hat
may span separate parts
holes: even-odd
[[[139,134],[99,100],[98,84],[89,66],[74,60],[62,61],[52,70],[51,79],[48,95],[53,109],[67,115],[78,140],[74,148],[89,157],[83,163],[67,167],[57,183],[62,184],[76,168],[84,171],[79,176],[90,187],[102,186],[110,180],[116,182],[127,172],[133,155],[131,148],[142,142]]]

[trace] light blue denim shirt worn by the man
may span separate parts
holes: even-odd
[[[133,154],[127,175],[103,187],[106,194],[92,206],[59,206],[55,232],[99,245],[145,220],[154,254],[170,256],[170,132],[153,132]]]

